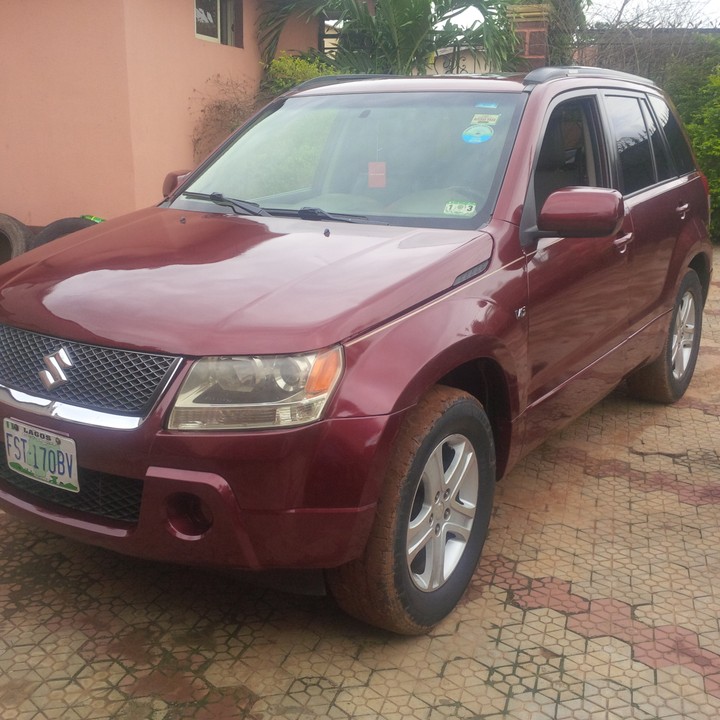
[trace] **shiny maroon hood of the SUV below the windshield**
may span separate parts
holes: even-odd
[[[0,267],[0,322],[186,356],[329,346],[487,261],[477,231],[150,208]]]

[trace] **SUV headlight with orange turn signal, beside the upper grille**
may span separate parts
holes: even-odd
[[[322,414],[343,368],[340,347],[303,355],[208,357],[190,369],[170,430],[305,425]]]

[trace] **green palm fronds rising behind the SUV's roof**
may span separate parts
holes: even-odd
[[[499,70],[517,45],[505,6],[505,0],[266,0],[261,43],[270,60],[291,15],[320,16],[336,21],[338,45],[323,61],[338,72],[425,74],[434,53],[448,47],[481,49],[489,67]],[[457,17],[469,8],[483,20],[461,27]]]

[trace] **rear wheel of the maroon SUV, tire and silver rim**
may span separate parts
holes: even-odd
[[[630,395],[640,400],[673,403],[690,385],[700,350],[703,291],[694,270],[680,283],[660,356],[628,377]]]

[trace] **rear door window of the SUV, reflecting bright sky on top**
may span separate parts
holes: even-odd
[[[606,104],[620,162],[623,194],[629,195],[654,185],[652,147],[638,99],[610,96],[606,98]]]

